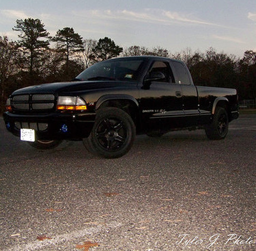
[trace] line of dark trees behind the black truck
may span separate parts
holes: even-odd
[[[256,98],[256,52],[246,51],[243,58],[184,49],[170,53],[161,47],[117,46],[109,37],[83,39],[73,28],[59,29],[54,37],[40,19],[18,19],[13,31],[18,41],[0,36],[0,109],[14,90],[35,84],[70,81],[93,63],[119,56],[161,56],[184,61],[198,86],[236,88],[239,98]]]

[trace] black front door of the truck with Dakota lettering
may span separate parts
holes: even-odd
[[[163,73],[165,78],[144,84],[140,89],[142,129],[150,131],[180,127],[180,118],[184,117],[183,95],[180,85],[174,83],[169,61],[153,62],[147,76],[153,73]]]

